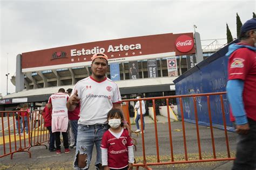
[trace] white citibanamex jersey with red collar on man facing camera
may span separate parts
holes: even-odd
[[[91,76],[87,77],[77,82],[72,94],[76,90],[80,98],[78,124],[106,124],[107,113],[114,103],[120,103],[122,100],[117,84],[109,78],[97,81]]]

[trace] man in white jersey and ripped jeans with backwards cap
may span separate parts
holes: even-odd
[[[107,78],[107,56],[96,53],[92,56],[92,75],[77,82],[67,107],[69,111],[80,105],[78,120],[77,147],[74,167],[89,169],[93,146],[96,145],[96,169],[102,169],[100,144],[107,130],[107,113],[111,108],[121,106],[121,96],[116,83]],[[126,121],[124,127],[129,129]]]

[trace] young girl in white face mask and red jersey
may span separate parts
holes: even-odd
[[[102,138],[102,166],[107,169],[132,169],[133,144],[129,133],[123,128],[123,114],[119,109],[107,113],[110,129]]]

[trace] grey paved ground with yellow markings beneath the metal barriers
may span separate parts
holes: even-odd
[[[156,137],[155,127],[153,120],[149,117],[145,117],[145,154],[147,162],[157,161],[157,149],[156,138],[158,138],[160,161],[169,161],[171,155],[170,138],[169,138],[169,126],[165,117],[158,116]],[[173,155],[174,161],[185,160],[184,152],[184,140],[183,130],[180,121],[172,122],[172,141],[173,141]],[[136,130],[135,125],[132,125],[132,130]],[[210,128],[205,126],[199,126],[200,145],[203,159],[212,159],[212,140],[210,135]],[[194,160],[199,158],[196,125],[185,123],[186,133],[186,146],[188,160]],[[227,148],[225,142],[225,133],[222,130],[214,128],[214,140],[215,151],[217,158],[227,157]],[[137,141],[137,151],[134,151],[134,156],[137,162],[143,162],[143,147],[142,147],[142,135],[132,134],[132,137]],[[231,157],[234,157],[235,151],[235,137],[236,134],[228,132],[228,140],[230,144]],[[0,148],[0,153],[2,153]],[[30,149],[32,158],[29,158],[29,154],[26,152],[15,153],[14,159],[10,159],[10,156],[0,158],[0,169],[72,169],[73,157],[75,151],[70,153],[56,154],[55,152],[49,152],[44,146],[36,146]],[[94,149],[95,151],[95,149]],[[96,153],[93,153],[92,164],[90,169],[95,169],[92,165],[95,162]],[[217,162],[204,162],[193,164],[175,164],[165,166],[150,166],[152,169],[231,169],[233,161],[217,161]],[[134,168],[135,169],[135,168]],[[142,169],[140,167],[140,169]]]

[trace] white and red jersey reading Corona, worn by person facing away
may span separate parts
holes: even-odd
[[[49,98],[48,103],[52,105],[52,115],[66,114],[68,115],[68,109],[66,108],[66,103],[69,99],[69,95],[66,93],[55,93]]]

